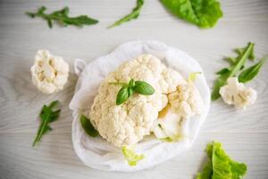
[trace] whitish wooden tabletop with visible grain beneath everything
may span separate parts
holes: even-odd
[[[231,158],[247,163],[245,178],[268,178],[268,64],[248,85],[258,98],[246,111],[236,111],[218,100],[193,147],[161,165],[135,173],[103,172],[84,166],[71,144],[71,110],[76,76],[71,74],[65,90],[45,95],[33,86],[29,67],[38,49],[62,55],[73,64],[79,57],[88,62],[105,55],[123,42],[155,39],[186,51],[205,70],[210,86],[217,70],[226,63],[231,49],[255,42],[257,57],[268,53],[268,1],[222,0],[224,17],[210,30],[174,18],[157,0],[145,0],[136,21],[107,30],[106,27],[131,11],[135,0],[1,0],[0,1],[0,178],[167,178],[192,179],[205,161],[205,145],[221,141]],[[48,11],[67,5],[71,15],[88,14],[100,22],[95,26],[48,29],[46,21],[24,13],[46,5]],[[267,91],[266,91],[267,90]],[[33,149],[40,108],[54,99],[62,102],[54,129]],[[161,154],[160,154],[161,155]]]

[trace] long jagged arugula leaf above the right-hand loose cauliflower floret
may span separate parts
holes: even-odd
[[[242,48],[241,48],[242,49]],[[214,90],[212,92],[212,100],[220,98],[219,90],[223,85],[226,84],[226,81],[233,77],[241,70],[241,68],[246,64],[247,59],[254,53],[254,43],[249,42],[247,47],[243,48],[243,51],[240,51],[236,58],[233,58],[232,63],[230,63],[229,68],[223,68],[221,71],[217,72],[219,75],[218,79],[214,82]]]

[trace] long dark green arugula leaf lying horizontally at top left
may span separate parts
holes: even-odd
[[[29,13],[31,18],[41,17],[47,21],[48,27],[51,29],[53,27],[53,21],[56,21],[63,26],[74,25],[78,27],[82,27],[83,25],[92,25],[96,24],[98,21],[88,17],[87,15],[80,15],[77,17],[69,17],[69,8],[64,7],[62,10],[55,11],[54,13],[45,13],[46,7],[41,6],[38,9],[37,13]]]

